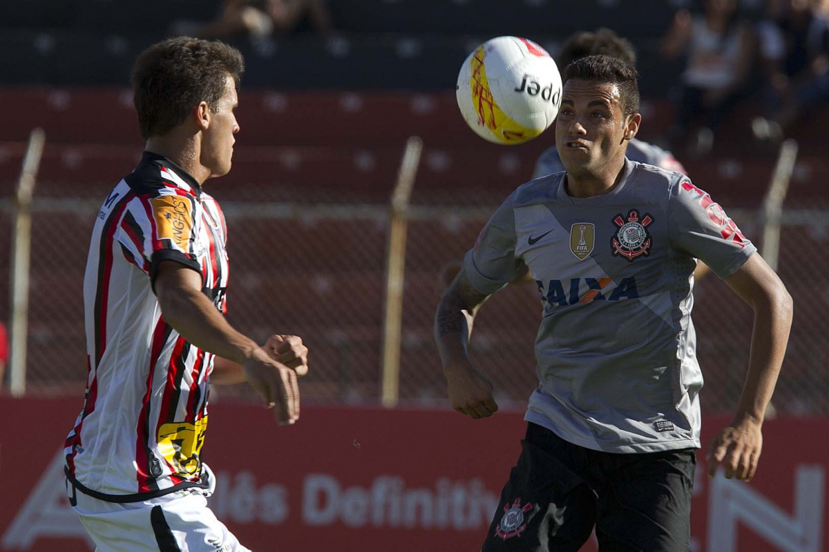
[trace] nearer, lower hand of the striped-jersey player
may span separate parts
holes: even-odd
[[[257,348],[242,364],[248,383],[274,409],[279,425],[293,424],[299,419],[299,386],[297,372],[270,358],[264,348]]]

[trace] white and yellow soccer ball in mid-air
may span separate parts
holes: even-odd
[[[496,144],[520,144],[555,120],[561,75],[535,42],[498,36],[463,62],[457,95],[463,120],[478,136]]]

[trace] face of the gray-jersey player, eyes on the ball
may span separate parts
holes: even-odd
[[[555,119],[555,147],[566,170],[593,172],[624,155],[628,118],[622,113],[621,99],[616,84],[566,82]]]

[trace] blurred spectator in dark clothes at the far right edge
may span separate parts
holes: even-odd
[[[829,101],[829,2],[769,0],[758,23],[766,117],[754,136],[777,142],[810,108]]]

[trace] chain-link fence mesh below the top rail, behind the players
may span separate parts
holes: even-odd
[[[219,196],[221,200],[221,196]],[[310,349],[303,401],[376,403],[381,358],[388,209],[384,205],[222,202],[229,225],[229,318],[262,340],[298,334]],[[400,401],[445,404],[432,338],[439,275],[471,246],[496,205],[414,205],[406,247]],[[7,259],[11,204],[0,205],[0,258]],[[27,390],[80,392],[85,378],[82,281],[99,202],[36,199]],[[829,204],[783,213],[778,271],[795,300],[794,324],[773,397],[778,413],[829,412]],[[815,208],[818,209],[815,209]],[[749,238],[754,212],[730,209]],[[5,263],[3,263],[5,264]],[[0,270],[0,319],[7,319],[8,271]],[[705,375],[703,408],[733,410],[749,357],[752,313],[715,276],[696,288],[693,313]],[[520,405],[537,384],[533,342],[541,318],[535,286],[508,286],[476,321],[473,362],[502,403]],[[251,396],[243,386],[216,398]]]

